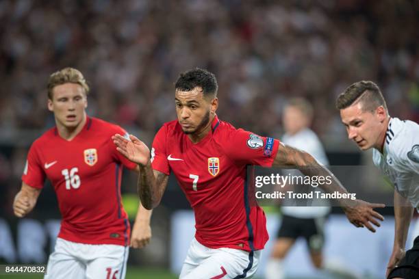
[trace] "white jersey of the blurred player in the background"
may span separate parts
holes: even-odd
[[[281,142],[309,153],[320,165],[329,165],[320,139],[310,129],[303,129],[295,135],[285,133]],[[282,207],[282,212],[297,218],[316,218],[327,215],[330,212],[330,207]]]

